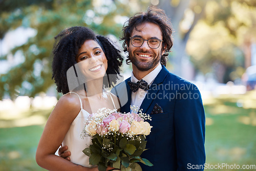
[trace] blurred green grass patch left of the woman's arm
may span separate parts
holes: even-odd
[[[45,170],[35,161],[41,125],[0,129],[0,170]]]

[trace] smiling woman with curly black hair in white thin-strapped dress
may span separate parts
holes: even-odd
[[[81,139],[80,134],[91,113],[119,106],[117,97],[103,88],[116,83],[123,58],[107,38],[86,27],[65,29],[55,39],[52,77],[64,95],[46,123],[36,162],[48,170],[98,170],[82,153],[91,138]],[[55,155],[60,145],[69,147],[71,162]]]

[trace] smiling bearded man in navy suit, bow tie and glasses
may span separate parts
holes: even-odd
[[[165,68],[172,32],[164,11],[154,7],[129,19],[122,40],[133,73],[113,92],[123,103],[121,112],[130,112],[130,105],[135,105],[152,117],[142,157],[154,166],[140,164],[142,170],[203,170],[205,114],[200,92]],[[128,100],[122,98],[123,92]]]

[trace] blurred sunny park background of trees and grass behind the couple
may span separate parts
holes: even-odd
[[[86,26],[118,41],[125,21],[152,5],[175,30],[167,69],[201,91],[206,163],[256,165],[255,0],[0,0],[0,170],[44,170],[37,143],[61,96],[54,36]],[[122,75],[131,71],[124,62]]]

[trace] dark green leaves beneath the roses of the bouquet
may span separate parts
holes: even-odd
[[[96,134],[93,136],[92,142],[93,144],[84,149],[83,153],[90,157],[90,164],[99,166],[100,171],[105,170],[108,165],[121,170],[133,168],[139,171],[141,167],[136,162],[153,166],[150,161],[140,157],[146,146],[145,138],[142,135],[129,141],[127,137],[118,134],[110,137]]]

